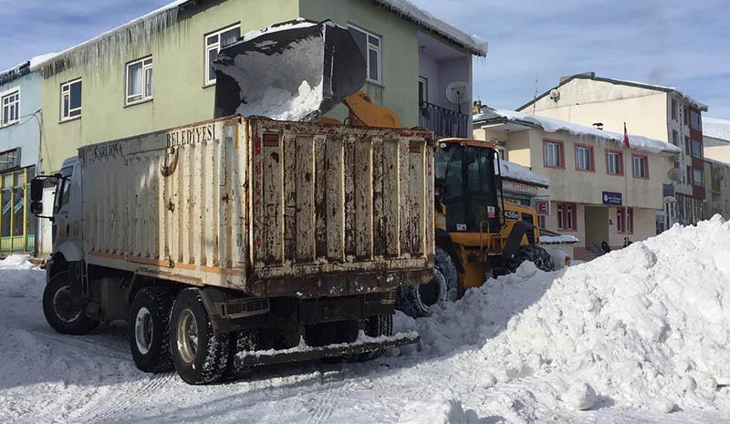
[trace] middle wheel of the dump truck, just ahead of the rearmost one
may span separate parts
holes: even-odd
[[[170,311],[172,294],[160,286],[143,287],[130,307],[130,350],[134,365],[144,372],[172,369]]]

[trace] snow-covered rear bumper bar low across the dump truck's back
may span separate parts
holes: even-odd
[[[362,331],[352,343],[337,343],[326,346],[308,346],[304,338],[299,345],[289,349],[269,349],[239,352],[234,357],[235,367],[253,367],[257,365],[283,364],[285,362],[301,362],[320,357],[342,357],[360,355],[389,347],[418,343],[421,337],[415,331],[398,333],[393,336],[366,336]]]

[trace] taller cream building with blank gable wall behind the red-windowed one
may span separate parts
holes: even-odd
[[[696,223],[707,214],[702,119],[707,107],[676,88],[587,72],[560,78],[558,86],[517,110],[619,133],[625,124],[631,134],[673,144],[682,150],[673,163],[678,171],[664,190],[669,202],[657,219],[669,227]]]

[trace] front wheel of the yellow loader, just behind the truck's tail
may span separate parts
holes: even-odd
[[[449,253],[436,247],[436,266],[433,280],[422,285],[402,285],[398,289],[396,309],[413,318],[430,314],[433,305],[454,302],[459,298],[459,274]]]

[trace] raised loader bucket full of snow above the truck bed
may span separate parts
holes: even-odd
[[[215,118],[317,121],[360,90],[366,65],[346,28],[292,21],[224,47],[213,67]]]

